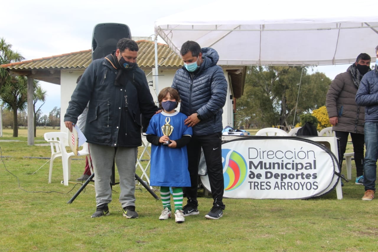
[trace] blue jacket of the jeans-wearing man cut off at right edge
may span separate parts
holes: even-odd
[[[378,122],[378,70],[367,72],[359,83],[356,103],[365,106],[365,122]]]

